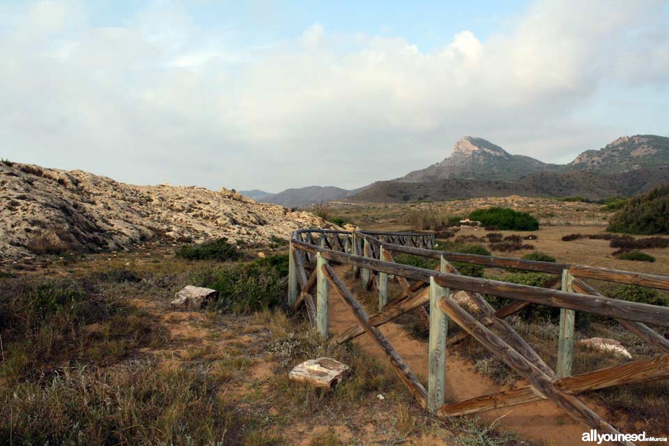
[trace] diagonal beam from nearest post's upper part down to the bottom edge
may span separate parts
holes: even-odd
[[[577,422],[581,422],[586,426],[597,429],[602,433],[610,433],[617,435],[618,432],[613,426],[604,421],[592,409],[585,406],[580,399],[573,395],[564,392],[564,390],[557,389],[543,371],[538,369],[535,364],[525,359],[523,355],[514,350],[500,337],[485,328],[475,318],[470,316],[453,300],[442,299],[439,302],[439,307],[458,325],[467,330],[469,334],[477,341],[483,344],[486,348],[499,357],[509,367],[514,369],[517,374],[528,380],[532,387],[541,392],[546,399],[551,400],[555,406],[564,410],[567,415]],[[620,445],[633,445],[631,442],[616,442]]]

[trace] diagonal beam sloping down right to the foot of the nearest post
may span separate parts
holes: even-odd
[[[362,306],[355,300],[351,291],[348,291],[344,282],[341,282],[341,279],[337,277],[334,273],[334,270],[329,265],[323,265],[320,268],[323,271],[325,277],[328,278],[328,281],[335,289],[337,289],[341,299],[344,300],[346,305],[351,308],[353,315],[357,319],[360,326],[369,334],[369,336],[374,339],[376,344],[383,350],[386,357],[390,361],[390,365],[393,370],[399,376],[399,378],[406,385],[408,390],[413,394],[415,399],[418,401],[420,406],[425,407],[427,401],[427,392],[425,387],[420,383],[418,378],[413,374],[413,371],[409,366],[404,362],[404,360],[397,354],[397,352],[392,348],[390,342],[383,336],[383,334],[378,330],[378,328],[369,324],[369,317],[367,312],[364,311]]]

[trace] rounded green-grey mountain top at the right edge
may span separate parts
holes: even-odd
[[[599,174],[617,174],[659,165],[669,165],[669,138],[636,134],[620,137],[599,150],[585,151],[568,167]]]

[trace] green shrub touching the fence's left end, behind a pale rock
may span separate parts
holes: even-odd
[[[269,256],[205,272],[194,279],[218,291],[222,312],[251,313],[276,307],[288,293],[288,255]]]

